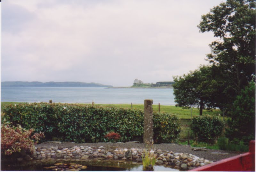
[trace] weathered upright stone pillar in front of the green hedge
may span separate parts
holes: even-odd
[[[153,142],[153,100],[144,100],[144,144]]]

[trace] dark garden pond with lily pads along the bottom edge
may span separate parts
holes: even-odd
[[[21,163],[1,162],[1,171],[142,171],[142,163],[132,161],[107,161],[107,160],[36,160]],[[154,171],[179,171],[179,169],[154,166]]]

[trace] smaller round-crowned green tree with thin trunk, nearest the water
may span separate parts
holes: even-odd
[[[215,94],[218,92],[214,79],[212,66],[201,65],[195,71],[190,71],[187,75],[174,76],[173,94],[174,101],[178,106],[189,108],[196,106],[202,115],[203,109],[210,109],[215,106],[212,103]]]

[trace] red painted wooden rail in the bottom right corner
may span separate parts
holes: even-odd
[[[255,171],[255,140],[250,141],[249,152],[189,171]]]

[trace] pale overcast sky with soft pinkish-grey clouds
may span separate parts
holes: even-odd
[[[3,0],[1,81],[173,81],[208,64],[220,0]]]

